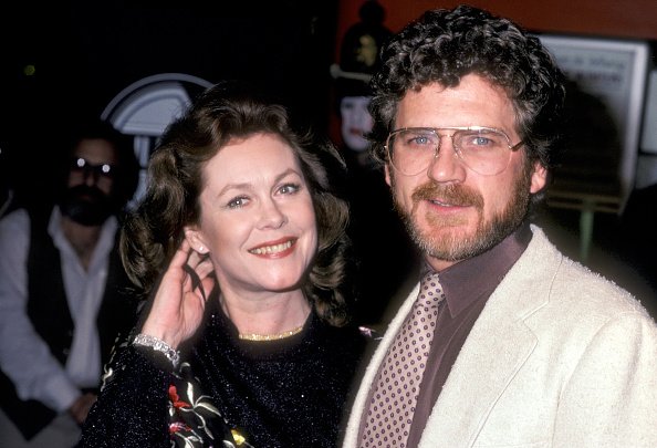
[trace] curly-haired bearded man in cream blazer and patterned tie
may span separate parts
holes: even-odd
[[[550,54],[470,7],[426,12],[382,54],[373,150],[428,275],[344,446],[657,446],[657,325],[528,222],[560,146]]]

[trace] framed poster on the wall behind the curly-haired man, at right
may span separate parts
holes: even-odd
[[[622,211],[635,185],[649,45],[539,35],[571,82],[564,165],[554,195],[574,207]]]

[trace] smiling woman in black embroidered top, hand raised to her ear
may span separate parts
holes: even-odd
[[[337,444],[366,337],[345,325],[338,288],[348,213],[328,185],[335,154],[238,84],[167,129],[122,238],[152,299],[81,446]]]

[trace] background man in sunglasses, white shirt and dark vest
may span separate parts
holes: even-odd
[[[0,220],[0,446],[71,447],[114,340],[135,322],[117,251],[138,180],[131,142],[76,123],[63,162],[54,208]]]

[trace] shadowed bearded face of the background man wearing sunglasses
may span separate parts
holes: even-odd
[[[84,226],[102,225],[114,210],[116,154],[104,139],[83,139],[71,159],[62,213]]]

